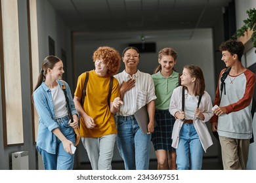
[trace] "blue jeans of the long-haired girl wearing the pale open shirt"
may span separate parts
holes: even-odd
[[[182,125],[176,153],[178,170],[202,169],[203,147],[193,124]]]

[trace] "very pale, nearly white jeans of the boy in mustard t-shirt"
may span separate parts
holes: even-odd
[[[114,154],[116,134],[104,135],[103,137],[82,137],[93,170],[111,170],[111,162]]]

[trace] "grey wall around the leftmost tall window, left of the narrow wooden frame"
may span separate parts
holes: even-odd
[[[19,25],[27,25],[27,7],[26,7],[26,0],[18,1],[18,22]],[[11,146],[5,148],[3,146],[3,138],[0,140],[0,169],[11,169],[11,154],[12,152],[18,151],[29,151],[30,161],[29,166],[31,169],[35,169],[35,148],[33,146],[33,139],[32,139],[32,113],[31,113],[31,97],[30,97],[30,75],[28,75],[30,68],[29,68],[29,45],[28,45],[28,26],[20,26],[19,29],[20,35],[20,69],[21,72],[21,80],[22,80],[22,116],[24,122],[24,145],[23,146]],[[13,96],[15,97],[15,96]],[[2,106],[1,106],[2,109]],[[1,110],[1,117],[2,117],[2,110]],[[3,118],[1,118],[3,119]],[[3,137],[3,121],[0,121],[1,126],[1,137]]]

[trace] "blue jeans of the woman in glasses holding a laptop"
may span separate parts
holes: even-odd
[[[134,116],[117,116],[117,148],[126,170],[148,170],[150,139]]]

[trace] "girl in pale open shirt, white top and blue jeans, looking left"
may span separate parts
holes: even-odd
[[[205,81],[200,67],[186,65],[182,71],[181,85],[173,90],[169,107],[171,115],[176,118],[172,146],[177,149],[178,170],[199,170],[202,169],[203,151],[206,152],[213,144],[205,125],[213,116],[213,105],[210,95],[204,91]]]

